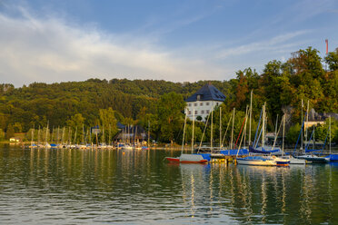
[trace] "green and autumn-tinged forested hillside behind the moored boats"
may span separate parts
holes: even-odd
[[[83,126],[82,123],[89,127],[102,124],[104,113],[113,112],[115,122],[146,126],[147,121],[151,121],[156,139],[178,141],[184,119],[184,99],[206,82],[89,79],[84,82],[31,83],[20,88],[2,84],[0,132],[27,132],[33,127],[46,127],[47,123],[50,128]],[[247,68],[238,71],[230,81],[211,83],[226,96],[222,106],[224,126],[234,107],[238,112],[238,124],[241,123],[251,90],[254,90],[254,118],[259,117],[266,102],[270,126],[286,107],[292,109],[293,122],[299,122],[302,99],[304,103],[309,101],[310,108],[316,112],[338,112],[338,49],[322,59],[317,50],[309,47],[293,53],[286,62],[268,62],[262,73]],[[201,129],[196,131],[198,139],[203,124],[197,124],[197,129]],[[0,138],[4,136],[1,133]]]

